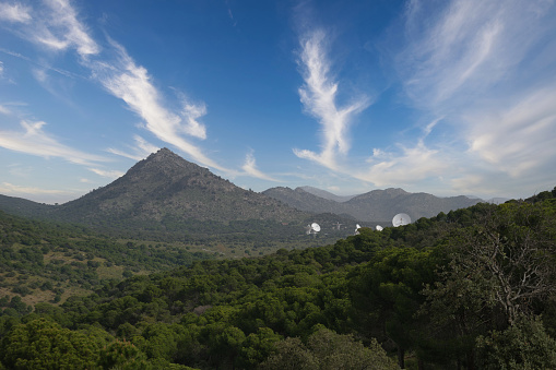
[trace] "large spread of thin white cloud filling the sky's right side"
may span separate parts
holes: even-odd
[[[544,0],[407,7],[394,64],[411,104],[424,117],[442,117],[442,135],[427,145],[452,189],[486,193],[509,182],[547,182],[556,166],[555,16],[554,1]],[[380,178],[389,178],[386,169]]]

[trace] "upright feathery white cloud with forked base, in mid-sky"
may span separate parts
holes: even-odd
[[[327,55],[327,34],[312,31],[300,38],[299,64],[305,84],[299,88],[301,103],[308,114],[321,127],[321,152],[294,150],[294,153],[330,169],[338,169],[338,155],[350,151],[350,126],[355,115],[366,109],[370,102],[366,96],[354,98],[344,107],[336,104],[339,84],[330,71]]]

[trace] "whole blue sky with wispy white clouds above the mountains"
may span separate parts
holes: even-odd
[[[161,147],[253,191],[552,190],[555,1],[0,0],[0,194]]]

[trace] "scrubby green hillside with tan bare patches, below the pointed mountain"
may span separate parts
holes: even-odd
[[[0,310],[7,307],[4,313],[10,313],[36,302],[58,303],[110,281],[212,258],[213,253],[185,247],[122,241],[80,226],[0,211]],[[9,305],[13,299],[21,305]]]

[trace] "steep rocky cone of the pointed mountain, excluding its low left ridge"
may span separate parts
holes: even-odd
[[[187,162],[167,148],[151,154],[110,184],[56,208],[64,219],[96,223],[106,217],[163,222],[294,222],[306,215],[274,199],[247,191]]]

